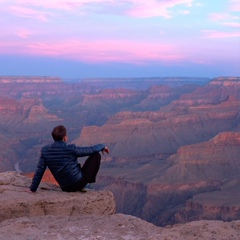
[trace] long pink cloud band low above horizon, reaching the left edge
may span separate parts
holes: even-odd
[[[3,43],[0,52],[49,56],[85,62],[129,62],[143,64],[148,61],[179,61],[183,55],[167,44],[131,41],[82,41]]]

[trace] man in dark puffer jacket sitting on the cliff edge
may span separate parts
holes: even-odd
[[[81,191],[88,183],[96,182],[101,163],[99,152],[109,154],[109,149],[104,144],[88,147],[67,144],[67,130],[62,125],[53,129],[52,137],[54,143],[44,146],[41,150],[30,190],[36,192],[46,167],[49,168],[62,191]],[[77,158],[84,156],[88,158],[81,167]]]

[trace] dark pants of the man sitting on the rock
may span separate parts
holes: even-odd
[[[62,187],[62,190],[65,192],[81,191],[88,183],[96,182],[96,176],[100,168],[100,164],[100,153],[95,153],[89,156],[81,168],[83,174],[82,178],[71,186]]]

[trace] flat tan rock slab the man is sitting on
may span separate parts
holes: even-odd
[[[30,216],[79,216],[114,214],[110,191],[66,193],[54,184],[41,183],[36,193],[27,192],[31,179],[16,172],[0,174],[0,221]]]

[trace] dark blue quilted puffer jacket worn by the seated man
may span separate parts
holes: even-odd
[[[89,147],[78,147],[64,141],[55,141],[44,146],[34,174],[30,190],[35,192],[41,182],[45,169],[48,167],[60,187],[71,186],[82,178],[77,158],[90,156],[105,148],[103,144]]]

